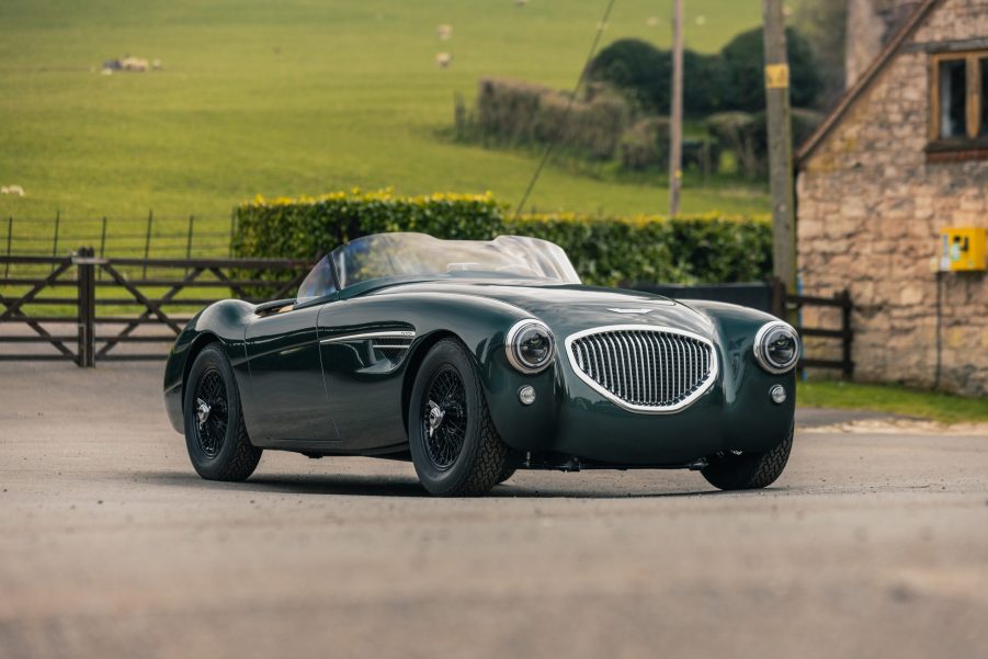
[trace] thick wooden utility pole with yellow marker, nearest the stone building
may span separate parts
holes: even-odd
[[[782,0],[763,0],[765,105],[769,121],[769,175],[772,190],[774,274],[796,291],[796,218],[793,190],[793,128],[790,66],[785,49]]]

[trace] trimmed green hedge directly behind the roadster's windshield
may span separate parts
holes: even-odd
[[[588,284],[714,283],[771,274],[772,235],[762,216],[718,214],[594,217],[529,214],[514,219],[491,194],[401,197],[388,191],[297,200],[255,198],[235,209],[234,253],[243,258],[316,258],[382,231],[436,238],[544,238],[559,245]]]

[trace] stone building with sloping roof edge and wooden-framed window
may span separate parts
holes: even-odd
[[[855,379],[986,395],[988,281],[933,263],[942,228],[988,227],[988,0],[897,4],[913,7],[797,155],[799,276],[850,288]]]

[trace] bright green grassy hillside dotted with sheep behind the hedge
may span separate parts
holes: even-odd
[[[670,0],[618,0],[604,43],[668,45]],[[688,45],[757,25],[754,0],[691,0]],[[228,216],[237,202],[360,186],[493,191],[536,158],[451,144],[455,92],[481,76],[571,87],[603,0],[4,0],[0,217]],[[650,26],[649,16],[659,25]],[[441,42],[436,26],[453,36]],[[702,23],[702,24],[701,24]],[[453,55],[440,69],[435,56]],[[100,75],[132,54],[163,70]],[[540,208],[661,212],[665,190],[549,168]],[[762,191],[688,190],[684,211],[763,211]],[[3,227],[0,227],[2,230]]]

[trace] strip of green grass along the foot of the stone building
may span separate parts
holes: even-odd
[[[845,382],[803,382],[797,385],[799,405],[862,409],[942,423],[988,422],[988,399],[965,398],[898,385],[863,385]]]

